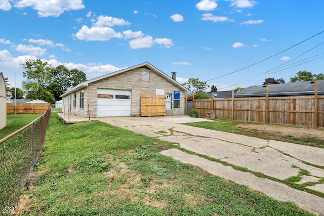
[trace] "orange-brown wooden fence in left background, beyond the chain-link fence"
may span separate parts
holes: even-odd
[[[44,113],[46,110],[51,108],[51,104],[30,104],[30,103],[24,103],[19,104],[17,103],[17,114],[23,114],[23,113]],[[13,103],[7,104],[7,114],[15,114],[16,106]]]

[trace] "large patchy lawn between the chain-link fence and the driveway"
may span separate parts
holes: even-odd
[[[158,152],[178,148],[52,114],[19,215],[313,215]]]

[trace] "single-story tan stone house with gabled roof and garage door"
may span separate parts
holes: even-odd
[[[176,73],[170,77],[145,62],[82,82],[60,97],[63,112],[105,117],[140,115],[140,94],[164,95],[167,115],[184,115],[185,92]]]

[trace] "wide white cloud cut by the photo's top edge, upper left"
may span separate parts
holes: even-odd
[[[39,1],[39,0],[20,0],[14,5],[16,8],[32,7],[38,11],[39,17],[58,17],[64,11],[80,10],[85,6],[82,0],[64,0],[64,1]]]

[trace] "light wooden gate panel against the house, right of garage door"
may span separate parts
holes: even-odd
[[[141,116],[167,115],[164,95],[141,94]]]

